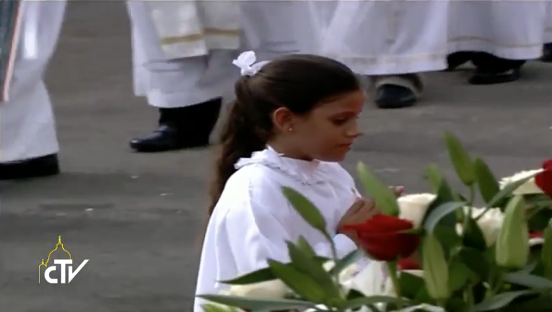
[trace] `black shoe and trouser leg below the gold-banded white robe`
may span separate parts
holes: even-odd
[[[130,148],[155,153],[206,147],[221,105],[222,98],[216,98],[189,107],[162,108],[159,127],[149,135],[131,140]]]

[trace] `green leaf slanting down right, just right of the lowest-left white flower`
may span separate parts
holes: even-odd
[[[311,302],[323,302],[326,292],[311,276],[276,260],[268,260],[269,267],[278,279],[297,295]]]

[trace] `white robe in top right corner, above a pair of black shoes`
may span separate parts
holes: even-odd
[[[503,59],[542,56],[550,1],[450,1],[449,52],[487,52]],[[550,38],[550,34],[548,35]]]

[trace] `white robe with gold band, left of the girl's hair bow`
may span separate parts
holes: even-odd
[[[239,45],[239,32],[204,36],[202,20],[195,14],[197,10],[192,10],[195,1],[156,2],[127,1],[135,95],[163,108],[186,107],[222,96],[237,78],[230,64]],[[211,5],[216,4],[227,7],[221,2]],[[232,12],[230,17],[238,18]],[[213,47],[226,49],[214,52]]]

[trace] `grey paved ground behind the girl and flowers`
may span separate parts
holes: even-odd
[[[128,139],[156,119],[131,95],[129,44],[123,4],[71,3],[48,76],[64,174],[0,186],[1,311],[190,311],[211,151],[128,151]],[[362,160],[389,184],[424,191],[424,165],[451,172],[447,130],[498,174],[539,165],[552,156],[552,66],[530,64],[524,74],[471,87],[469,71],[436,73],[418,107],[366,107],[366,136],[345,165]],[[90,262],[68,285],[38,285],[58,235],[73,259]]]

